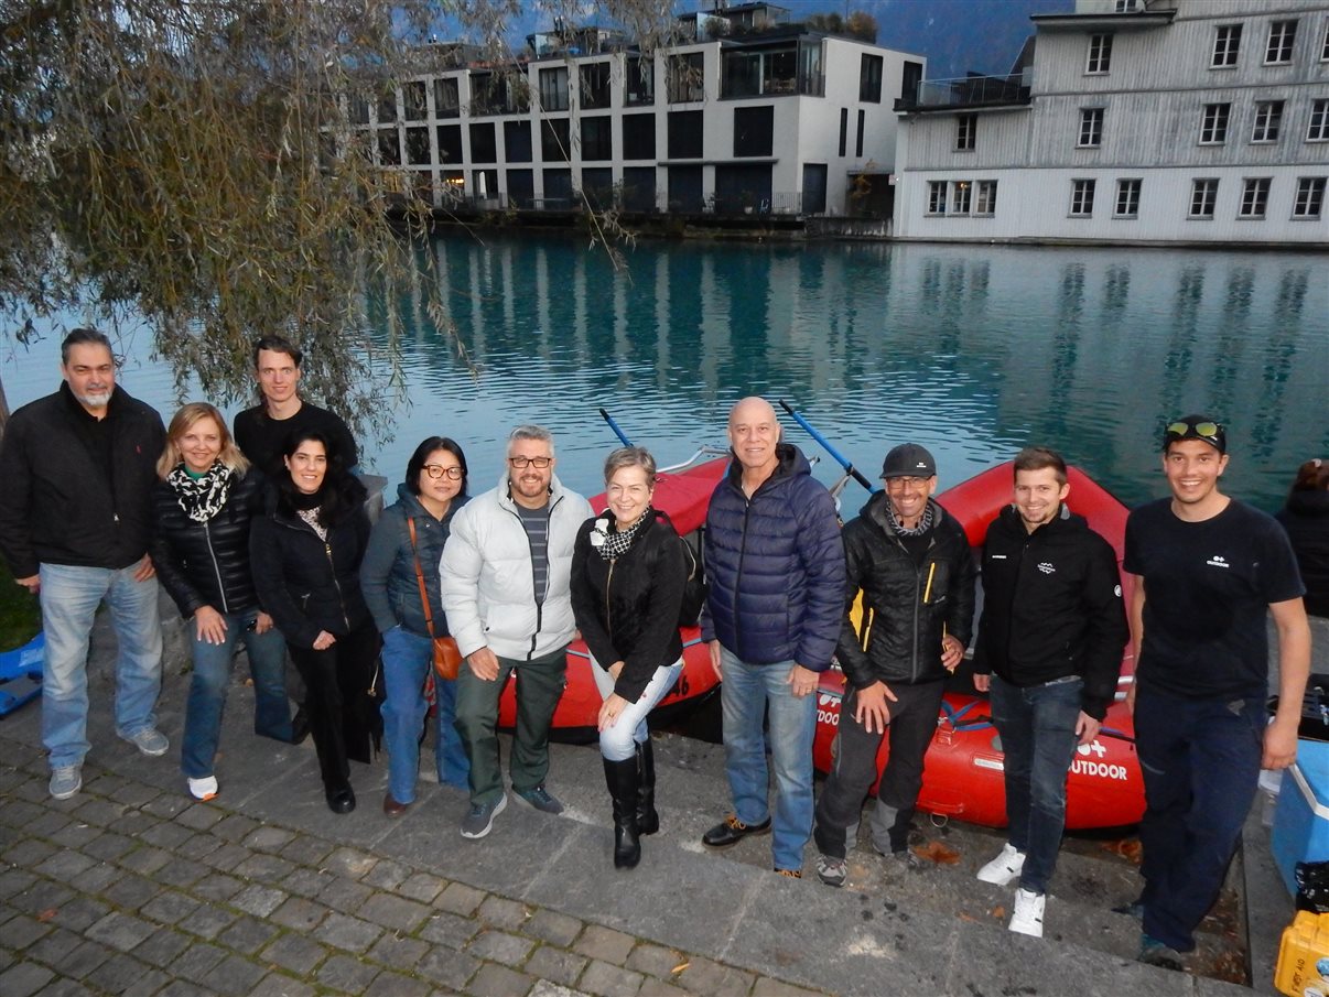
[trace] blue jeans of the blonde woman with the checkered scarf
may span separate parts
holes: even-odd
[[[190,629],[194,654],[194,675],[189,683],[185,705],[185,736],[181,739],[179,767],[190,779],[213,774],[217,742],[222,732],[222,713],[226,709],[226,687],[235,659],[235,645],[245,642],[249,653],[250,674],[254,677],[254,732],[276,740],[291,739],[291,707],[286,701],[286,641],[274,627],[258,634],[250,627],[258,610],[227,613],[226,639],[209,643],[198,639],[198,626]]]

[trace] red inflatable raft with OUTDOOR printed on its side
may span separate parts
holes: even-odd
[[[1013,469],[1009,463],[985,471],[937,496],[938,501],[964,524],[969,542],[982,545],[990,524],[1011,500]],[[1116,550],[1122,562],[1127,510],[1106,489],[1083,472],[1071,468],[1071,491],[1066,504],[1088,520]],[[1123,596],[1130,600],[1123,577]],[[975,621],[977,623],[977,621]],[[1134,673],[1135,658],[1127,649],[1122,661],[1122,689]],[[961,673],[968,669],[961,666]],[[953,683],[961,685],[957,681]],[[948,691],[937,717],[937,732],[928,748],[918,807],[932,814],[953,816],[973,824],[1006,824],[1006,792],[1002,783],[1002,751],[986,697],[977,695],[968,678],[964,689]],[[821,678],[817,702],[815,762],[827,771],[840,723],[844,675],[832,669]],[[888,743],[882,739],[877,771],[886,763]],[[1144,812],[1144,782],[1135,755],[1135,726],[1118,697],[1107,711],[1103,731],[1091,744],[1082,744],[1071,763],[1066,791],[1066,827],[1119,827],[1139,822]]]

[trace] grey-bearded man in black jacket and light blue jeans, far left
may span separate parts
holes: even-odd
[[[82,787],[88,743],[88,639],[105,601],[120,643],[116,731],[145,755],[166,754],[153,710],[162,631],[148,557],[161,416],[116,387],[110,340],[76,328],[60,347],[65,383],[9,420],[0,449],[0,552],[19,585],[41,594],[47,646],[41,740],[51,795]]]

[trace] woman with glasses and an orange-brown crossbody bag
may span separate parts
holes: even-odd
[[[388,746],[388,792],[383,812],[400,816],[415,802],[424,735],[424,685],[433,638],[448,635],[439,598],[439,560],[452,517],[466,502],[466,455],[447,436],[431,436],[407,461],[397,501],[383,510],[360,565],[360,588],[383,634],[383,734]],[[421,590],[424,594],[421,594]],[[436,678],[439,782],[466,788],[466,760],[456,718],[457,683]]]

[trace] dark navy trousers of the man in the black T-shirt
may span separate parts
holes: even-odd
[[[1144,774],[1144,933],[1177,952],[1213,907],[1255,802],[1264,695],[1181,699],[1140,686],[1135,747]]]

